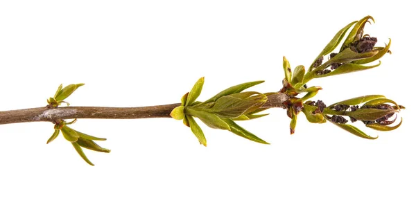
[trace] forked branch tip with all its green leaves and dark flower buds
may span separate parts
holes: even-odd
[[[371,16],[367,16],[358,21],[353,21],[339,30],[327,46],[324,47],[318,57],[315,58],[307,72],[305,71],[304,66],[300,65],[295,67],[295,70],[292,73],[291,66],[288,60],[286,60],[286,57],[284,57],[283,69],[285,78],[280,92],[286,93],[290,97],[284,104],[287,109],[288,117],[291,118],[291,134],[295,131],[297,114],[300,113],[300,111],[304,113],[309,122],[324,123],[329,120],[338,127],[346,129],[350,133],[363,138],[372,137],[363,134],[363,131],[352,125],[345,124],[348,120],[343,118],[343,116],[349,116],[352,122],[361,120],[365,122],[367,127],[383,131],[396,129],[401,125],[400,122],[398,125],[388,127],[388,125],[395,122],[395,120],[387,119],[396,113],[397,110],[400,109],[400,106],[396,102],[386,99],[384,96],[363,96],[353,98],[351,100],[338,102],[330,107],[326,107],[320,100],[318,100],[318,102],[306,102],[306,100],[315,96],[318,91],[322,89],[321,87],[306,87],[306,83],[313,78],[323,78],[331,75],[341,75],[372,69],[379,66],[381,62],[370,66],[364,64],[379,60],[385,53],[390,53],[389,48],[391,40],[384,47],[375,47],[377,42],[376,37],[370,37],[370,35],[364,34],[364,26],[370,20],[374,21]],[[348,30],[349,34],[347,35]],[[347,37],[344,39],[345,35],[347,35]],[[340,46],[340,51],[334,53],[333,51],[335,51],[338,46]],[[323,62],[324,56],[326,55],[329,55],[329,58],[326,62]],[[297,96],[300,93],[306,94],[299,98]],[[350,107],[350,105],[360,104],[365,100],[367,100],[367,103],[363,104],[362,107]],[[384,104],[383,102],[390,102],[393,105]],[[336,107],[337,110],[333,109],[334,107]]]

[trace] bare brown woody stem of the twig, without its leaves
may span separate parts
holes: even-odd
[[[261,108],[283,107],[288,99],[284,93],[268,96],[268,101]],[[139,119],[139,118],[171,118],[171,111],[180,106],[177,104],[164,104],[149,107],[37,107],[31,109],[18,109],[0,111],[0,125],[17,122],[55,122],[72,118],[94,119]]]

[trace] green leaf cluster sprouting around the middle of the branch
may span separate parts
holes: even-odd
[[[236,120],[251,120],[267,115],[257,114],[264,110],[260,107],[267,101],[266,95],[256,91],[243,92],[262,82],[247,82],[229,87],[205,102],[198,102],[196,99],[200,96],[204,84],[204,78],[200,78],[191,91],[182,97],[181,105],[173,109],[171,117],[183,120],[184,125],[191,128],[200,144],[204,146],[207,145],[207,139],[195,118],[213,129],[231,131],[233,134],[254,142],[268,144],[235,122]]]

